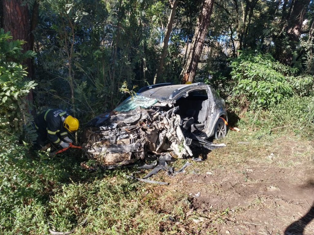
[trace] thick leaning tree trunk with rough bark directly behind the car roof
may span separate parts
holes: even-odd
[[[202,11],[198,16],[189,56],[184,66],[182,83],[186,83],[187,81],[192,82],[195,78],[196,69],[198,67],[198,61],[203,50],[205,36],[210,23],[210,16],[212,14],[213,6],[214,0],[204,0]]]

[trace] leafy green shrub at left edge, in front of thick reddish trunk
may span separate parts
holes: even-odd
[[[0,124],[10,133],[20,135],[23,125],[32,120],[25,96],[34,89],[34,81],[26,81],[27,72],[23,60],[35,56],[35,52],[22,53],[22,40],[12,40],[9,32],[0,29]],[[31,139],[32,131],[28,129]]]

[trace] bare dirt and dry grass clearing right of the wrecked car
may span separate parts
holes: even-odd
[[[314,143],[234,139],[162,186],[191,202],[185,216],[192,227],[181,234],[314,234]]]

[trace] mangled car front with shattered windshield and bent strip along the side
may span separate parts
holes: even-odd
[[[137,95],[115,110],[97,116],[84,128],[84,149],[99,165],[128,165],[148,154],[172,151],[192,156],[190,145],[214,149],[225,146],[182,131],[178,106],[165,99]]]

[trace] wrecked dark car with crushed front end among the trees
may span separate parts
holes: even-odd
[[[203,82],[145,86],[113,111],[90,120],[83,148],[100,165],[127,165],[169,151],[183,158],[193,156],[192,146],[224,147],[207,139],[223,138],[227,121],[225,101]]]

